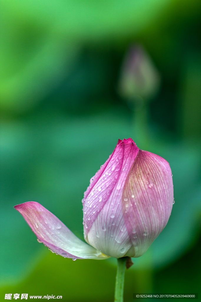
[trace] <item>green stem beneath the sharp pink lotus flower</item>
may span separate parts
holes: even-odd
[[[123,302],[124,296],[124,274],[127,257],[117,259],[117,275],[115,284],[115,302]]]

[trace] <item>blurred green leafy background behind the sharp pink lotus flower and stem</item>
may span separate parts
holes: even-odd
[[[113,301],[116,259],[52,254],[13,206],[37,201],[83,239],[83,192],[128,137],[170,163],[175,204],[126,271],[125,302],[201,294],[200,17],[199,0],[2,1],[1,301]],[[127,73],[133,45],[144,77]]]

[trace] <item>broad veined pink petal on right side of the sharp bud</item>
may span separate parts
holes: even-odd
[[[122,210],[135,255],[143,255],[171,214],[173,184],[168,162],[140,150],[127,176]]]

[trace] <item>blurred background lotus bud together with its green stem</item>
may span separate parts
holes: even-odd
[[[134,111],[133,136],[141,149],[149,149],[147,101],[159,90],[160,75],[151,58],[140,45],[130,47],[125,56],[119,94]]]

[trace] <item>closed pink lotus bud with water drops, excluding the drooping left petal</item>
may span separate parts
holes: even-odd
[[[111,257],[139,257],[164,229],[173,204],[171,169],[162,157],[118,140],[83,199],[84,236]]]

